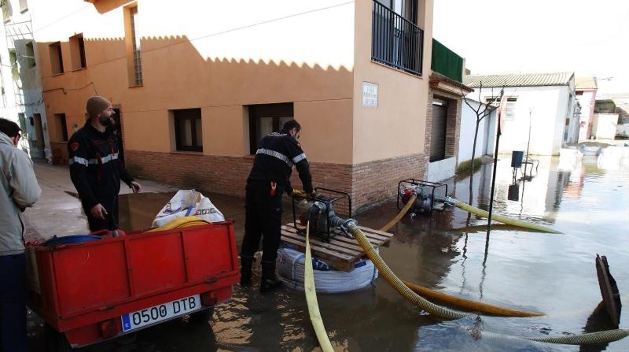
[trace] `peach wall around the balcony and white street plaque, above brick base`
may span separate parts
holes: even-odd
[[[428,75],[432,42],[432,0],[420,1],[425,31],[423,77],[371,61],[372,1],[355,2],[353,162],[424,151]],[[378,84],[377,108],[362,106],[362,82]]]

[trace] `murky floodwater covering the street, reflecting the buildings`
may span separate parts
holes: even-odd
[[[519,339],[474,339],[470,329],[503,336],[554,336],[610,329],[595,310],[601,302],[594,258],[605,255],[621,293],[629,302],[629,167],[600,162],[539,157],[529,181],[513,186],[509,156],[498,163],[494,212],[560,230],[545,234],[498,225],[487,236],[485,219],[459,209],[432,217],[404,217],[391,229],[391,245],[381,256],[401,278],[460,297],[514,309],[545,312],[543,317],[470,315],[441,321],[422,314],[382,278],[358,292],[318,295],[321,316],[337,351],[629,351],[629,338],[598,346],[531,343]],[[487,208],[491,167],[474,174],[472,203]],[[529,172],[531,172],[529,170]],[[315,175],[316,177],[316,175]],[[469,178],[452,180],[450,193],[469,201]],[[148,227],[170,195],[121,198],[121,228]],[[211,196],[243,236],[243,200]],[[286,220],[291,207],[285,207]],[[379,228],[397,212],[385,203],[356,217]],[[259,278],[254,278],[257,284]],[[629,327],[627,314],[620,327]],[[41,328],[31,341],[42,345]],[[313,351],[318,350],[303,293],[281,290],[260,296],[234,287],[233,299],[214,310],[209,324],[171,321],[137,333],[135,341],[113,341],[85,351]]]

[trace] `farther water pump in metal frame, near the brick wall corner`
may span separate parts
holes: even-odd
[[[444,200],[448,195],[448,185],[414,178],[399,181],[398,209],[401,210],[413,195],[416,195],[417,198],[411,207],[411,211],[413,213],[430,215],[433,210],[443,211],[445,208]]]

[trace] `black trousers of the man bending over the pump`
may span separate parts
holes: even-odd
[[[245,237],[240,256],[252,258],[262,237],[262,262],[274,263],[282,225],[282,190],[277,186],[271,195],[270,182],[250,181],[245,192]]]

